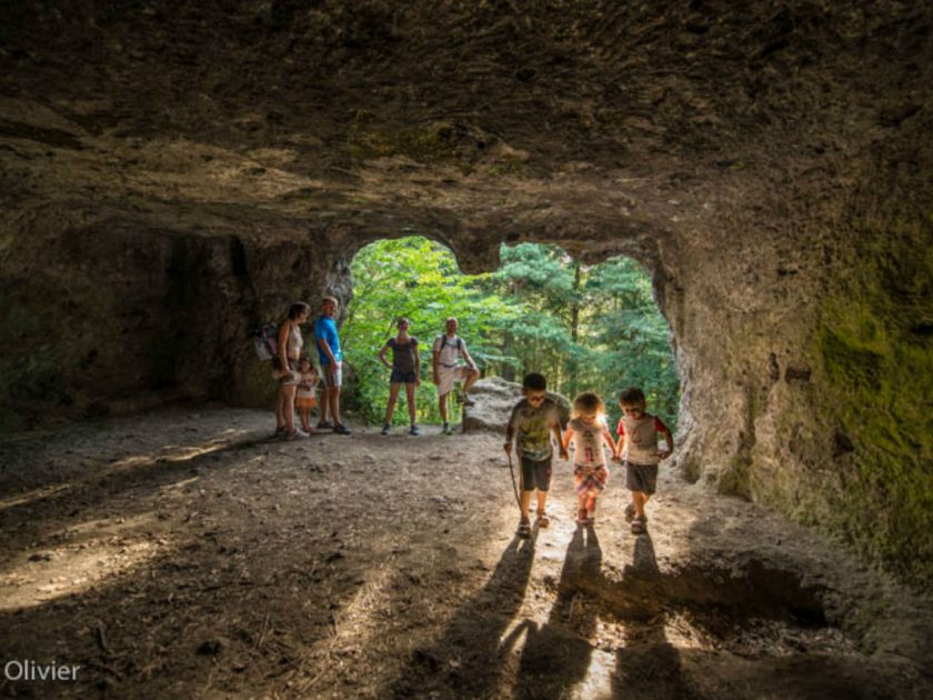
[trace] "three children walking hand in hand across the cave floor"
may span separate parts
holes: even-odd
[[[519,536],[531,534],[531,499],[535,491],[536,524],[546,528],[550,522],[545,504],[554,444],[559,446],[561,459],[569,459],[569,449],[573,446],[578,523],[590,526],[595,521],[596,499],[609,479],[608,452],[613,462],[624,464],[625,488],[632,492],[625,520],[631,523],[632,532],[644,533],[648,528],[644,507],[658,487],[658,463],[670,457],[674,444],[664,422],[648,412],[644,392],[631,387],[619,394],[622,417],[616,427],[618,441],[606,424],[605,404],[591,391],[573,400],[571,419],[563,432],[560,409],[548,397],[548,381],[543,374],[524,377],[522,397],[512,409],[505,429],[505,453],[511,460],[514,443],[520,463]],[[659,434],[666,442],[663,450],[658,447]]]

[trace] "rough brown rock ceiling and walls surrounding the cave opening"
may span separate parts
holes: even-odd
[[[925,3],[0,10],[3,424],[265,400],[249,328],[413,232],[651,272],[710,488],[933,582]]]

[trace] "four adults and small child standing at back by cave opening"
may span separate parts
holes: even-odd
[[[310,358],[302,353],[303,336],[301,326],[311,316],[311,308],[304,302],[295,302],[289,309],[288,317],[279,326],[278,357],[272,376],[279,382],[275,402],[275,436],[287,439],[307,438],[317,430],[333,430],[339,434],[350,434],[340,414],[340,391],[343,384],[343,354],[340,351],[340,337],[334,316],[338,301],[324,297],[321,313],[314,321],[314,343],[318,361],[321,366],[318,374]],[[418,338],[409,333],[410,323],[405,318],[398,320],[398,333],[385,341],[378,358],[389,370],[389,403],[385,407],[385,420],[382,434],[392,429],[392,414],[402,384],[405,387],[409,418],[409,433],[418,436],[415,388],[421,384],[421,354]],[[450,434],[449,397],[454,384],[462,383],[463,389],[458,400],[464,406],[472,406],[470,388],[479,379],[480,371],[466,349],[466,342],[457,334],[458,321],[449,318],[443,333],[440,333],[432,347],[432,374],[438,387],[438,408],[443,421],[443,432]],[[391,351],[392,361],[387,354]],[[321,386],[320,420],[311,424],[311,409],[317,404],[317,388]],[[294,424],[294,412],[299,411],[301,427]]]

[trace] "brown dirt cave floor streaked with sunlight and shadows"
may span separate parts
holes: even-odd
[[[499,434],[271,420],[3,439],[0,694],[933,697],[931,600],[750,503],[662,474],[635,537],[616,473],[581,528],[558,461],[524,541]]]

